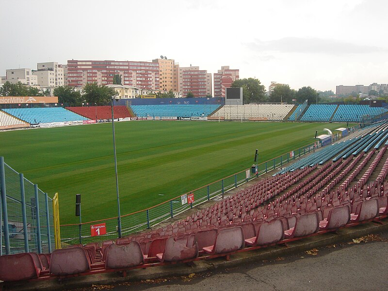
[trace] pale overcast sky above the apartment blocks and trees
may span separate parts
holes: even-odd
[[[165,55],[291,88],[388,83],[386,0],[1,0],[0,75]]]

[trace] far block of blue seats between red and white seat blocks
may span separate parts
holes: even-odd
[[[220,105],[217,104],[166,104],[132,105],[136,116],[208,116]]]

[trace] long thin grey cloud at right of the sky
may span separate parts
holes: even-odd
[[[256,39],[246,44],[248,49],[254,51],[279,51],[291,53],[324,53],[332,55],[363,54],[372,52],[385,52],[387,48],[366,46],[347,43],[334,39],[284,37],[280,39],[262,41]]]

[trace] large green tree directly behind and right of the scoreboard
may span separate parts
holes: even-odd
[[[248,78],[236,80],[231,87],[242,87],[242,102],[249,104],[252,102],[265,102],[267,96],[265,95],[265,87],[260,84],[258,79]]]

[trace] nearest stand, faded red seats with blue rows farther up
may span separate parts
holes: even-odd
[[[375,125],[359,138],[375,137],[385,129],[385,124]],[[322,154],[312,153],[312,166],[292,166],[295,170],[263,178],[184,219],[148,232],[101,246],[89,243],[55,250],[45,256],[47,260],[34,253],[1,256],[0,280],[58,279],[126,272],[166,262],[228,258],[235,252],[380,221],[388,217],[388,141],[384,146],[380,143],[385,136],[369,139],[368,145],[380,146],[366,152],[365,143],[349,143],[355,155],[319,167]]]

